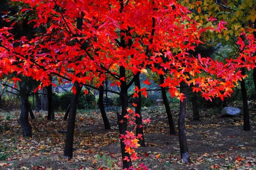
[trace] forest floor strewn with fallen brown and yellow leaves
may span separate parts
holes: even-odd
[[[233,103],[241,108],[241,102]],[[186,117],[186,135],[191,164],[182,164],[178,136],[169,135],[163,106],[143,108],[147,147],[137,149],[141,160],[151,170],[256,170],[256,102],[249,101],[251,131],[243,131],[240,117],[221,117],[218,108],[201,109],[201,121]],[[177,129],[178,105],[172,105]],[[47,113],[35,113],[30,120],[33,136],[24,139],[18,122],[19,112],[0,114],[0,170],[120,170],[119,134],[116,111],[107,112],[111,130],[104,130],[99,111],[77,114],[74,157],[63,155],[67,121],[56,113],[47,121]]]

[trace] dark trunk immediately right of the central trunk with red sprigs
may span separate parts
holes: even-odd
[[[140,89],[140,75],[134,75],[134,85],[137,86]],[[136,116],[135,123],[136,123],[136,136],[138,134],[141,134],[142,139],[139,139],[139,144],[142,147],[146,147],[145,144],[145,138],[144,138],[144,133],[143,133],[143,125],[142,125],[142,116],[141,116],[141,92],[139,91],[138,93],[139,97],[135,98],[135,104],[137,105],[135,107],[135,113],[139,114],[140,117]]]

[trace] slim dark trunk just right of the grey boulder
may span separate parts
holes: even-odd
[[[245,68],[241,68],[242,75],[245,74]],[[245,81],[242,78],[241,82],[241,92],[243,99],[243,110],[244,110],[244,131],[250,131],[250,117],[249,117],[249,109],[248,109],[248,99],[247,99],[247,91]]]

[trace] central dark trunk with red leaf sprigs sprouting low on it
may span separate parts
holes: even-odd
[[[125,77],[125,68],[123,66],[120,66],[119,68],[120,71],[120,77]],[[128,89],[127,89],[127,84],[126,81],[121,80],[121,86],[120,86],[120,101],[121,101],[121,106],[122,106],[122,113],[119,115],[118,113],[118,126],[119,126],[119,133],[120,135],[126,134],[127,130],[127,119],[125,119],[125,115],[127,114],[127,107],[128,107]],[[123,120],[123,122],[120,122]],[[120,145],[121,145],[121,153],[122,153],[122,163],[123,163],[123,169],[129,168],[132,166],[131,161],[126,161],[123,160],[125,156],[130,159],[130,154],[125,152],[125,144],[123,142],[124,139],[120,139]]]

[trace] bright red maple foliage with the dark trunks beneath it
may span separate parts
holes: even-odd
[[[180,152],[183,161],[189,162],[185,134],[187,86],[193,84],[193,92],[201,92],[205,99],[216,96],[223,99],[230,96],[235,84],[244,78],[238,68],[254,67],[255,57],[251,54],[255,52],[255,42],[249,35],[246,36],[248,45],[243,46],[243,41],[238,41],[245,48],[241,48],[236,60],[227,59],[224,63],[200,54],[190,55],[189,51],[202,43],[201,33],[208,29],[215,31],[215,28],[201,28],[189,17],[190,11],[175,0],[22,2],[27,7],[21,13],[34,11],[36,14],[28,24],[33,23],[35,28],[42,27],[44,31],[32,37],[17,37],[12,34],[12,27],[0,28],[0,75],[15,72],[31,77],[41,82],[38,89],[54,86],[52,76],[58,77],[60,83],[70,81],[74,84],[64,150],[64,155],[70,158],[73,156],[78,95],[83,85],[92,87],[93,79],[98,83],[92,88],[101,88],[101,92],[107,76],[115,79],[113,85],[120,87],[120,92],[106,91],[120,95],[122,111],[117,117],[123,168],[133,169],[131,161],[138,159],[134,148],[140,145],[138,142],[143,134],[135,136],[127,131],[127,125],[134,125],[131,120],[136,116],[140,117],[135,123],[139,128],[143,122],[149,122],[141,119],[139,113],[140,96],[147,96],[138,79],[145,68],[161,77],[166,75],[164,82],[161,78],[160,86],[180,99]],[[225,24],[220,21],[216,32],[226,29]],[[130,79],[128,73],[132,73],[133,78]],[[201,73],[207,76],[199,75]],[[137,99],[135,112],[128,108],[128,88],[133,83]]]

